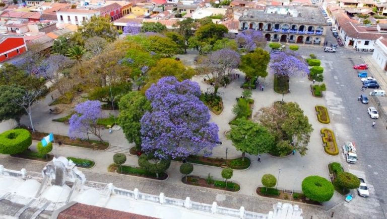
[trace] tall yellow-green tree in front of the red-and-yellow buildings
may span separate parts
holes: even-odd
[[[90,20],[82,22],[78,27],[78,32],[84,40],[92,37],[101,37],[108,42],[116,39],[118,33],[117,29],[113,27],[110,18],[93,16]]]

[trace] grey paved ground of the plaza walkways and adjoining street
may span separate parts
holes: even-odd
[[[327,218],[331,216],[332,212],[334,212],[334,218],[384,218],[383,208],[387,209],[387,206],[384,202],[386,193],[382,189],[382,182],[384,181],[385,186],[386,173],[384,170],[385,162],[382,162],[383,156],[381,155],[385,157],[387,152],[381,146],[387,142],[385,126],[382,127],[382,123],[379,120],[376,121],[377,129],[371,129],[372,121],[366,115],[366,108],[369,106],[359,105],[356,101],[356,97],[361,93],[360,80],[356,77],[355,70],[352,69],[353,63],[358,64],[367,57],[363,55],[361,58],[359,53],[344,48],[339,48],[336,54],[324,53],[321,47],[300,47],[299,52],[305,57],[310,53],[314,53],[321,60],[321,64],[325,68],[324,82],[327,84],[325,96],[323,98],[313,97],[310,92],[311,82],[306,77],[293,77],[290,79],[291,93],[284,96],[275,93],[273,89],[273,75],[269,74],[265,80],[265,90],[252,91],[252,98],[254,99],[253,115],[260,108],[270,106],[275,101],[281,101],[282,98],[286,102],[297,102],[304,114],[309,118],[309,123],[312,124],[314,129],[310,137],[307,154],[301,157],[296,153],[284,158],[274,158],[267,154],[262,154],[261,163],[257,162],[257,156],[246,155],[251,159],[250,168],[243,171],[235,170],[233,177],[230,179],[241,185],[241,190],[237,193],[183,184],[179,172],[180,162],[174,161],[166,171],[169,178],[162,182],[108,173],[107,166],[113,163],[112,157],[117,152],[127,154],[125,164],[138,165],[137,156],[128,154],[129,149],[134,147],[134,144],[127,143],[122,130],[114,131],[112,134],[109,134],[107,130],[103,131],[102,138],[110,143],[110,147],[106,151],[93,151],[91,149],[63,145],[57,146],[55,144],[52,153],[56,156],[74,156],[96,161],[95,167],[83,170],[87,179],[91,181],[112,182],[121,188],[131,190],[139,188],[140,191],[151,194],[164,192],[169,197],[185,198],[189,196],[192,200],[204,203],[217,201],[219,205],[233,208],[244,206],[247,210],[257,212],[266,212],[272,209],[273,204],[277,202],[275,199],[263,198],[255,193],[256,187],[261,185],[261,178],[264,174],[271,173],[278,177],[279,169],[281,169],[278,178],[278,188],[301,191],[301,182],[306,176],[319,175],[329,179],[328,164],[340,162],[346,171],[366,178],[367,184],[370,186],[370,197],[362,198],[356,195],[352,202],[344,203],[344,197],[335,192],[335,196],[331,201],[325,203],[324,206],[316,207],[300,204],[304,211],[302,214],[304,218],[311,218],[311,216],[313,218]],[[368,55],[371,55],[371,53]],[[193,60],[194,56],[196,54],[191,52],[187,55],[179,55],[187,65],[193,65],[191,60]],[[203,77],[195,76],[193,80],[201,85],[203,91],[207,91],[208,88],[210,89],[210,86],[204,83]],[[232,106],[236,103],[235,98],[241,95],[242,89],[240,85],[243,81],[244,76],[241,75],[240,78],[232,81],[227,87],[219,88],[224,111],[219,116],[212,114],[211,121],[219,126],[219,137],[223,144],[213,150],[213,157],[225,158],[226,148],[228,148],[227,158],[241,156],[241,153],[232,146],[231,141],[226,139],[224,133],[230,129],[228,122],[234,118],[231,112]],[[56,91],[53,91],[52,94],[55,97],[59,95]],[[51,101],[49,94],[45,99],[33,106],[32,116],[35,128],[40,132],[68,135],[68,125],[51,121],[55,118],[67,116],[66,113],[60,115],[49,114],[48,104]],[[328,107],[331,124],[323,125],[317,121],[314,111],[314,106],[317,104]],[[29,125],[28,118],[23,117],[21,123]],[[360,148],[357,148],[360,157],[358,163],[347,165],[342,153],[339,156],[330,156],[324,152],[319,134],[320,129],[324,127],[334,130],[339,147],[344,141],[355,141],[357,145],[360,145]],[[372,138],[372,145],[367,145],[369,138]],[[91,139],[96,138],[91,137]],[[30,147],[32,150],[36,150],[36,143],[34,141]],[[20,170],[25,167],[29,171],[40,171],[45,165],[44,162],[16,159],[6,155],[1,155],[1,157],[2,164],[8,169]],[[377,162],[381,165],[377,166]],[[221,179],[221,168],[194,164],[192,174],[205,177],[209,173],[214,178]],[[352,192],[356,193],[355,190]],[[371,215],[369,214],[370,212],[372,212]]]

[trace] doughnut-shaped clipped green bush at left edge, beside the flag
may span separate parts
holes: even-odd
[[[25,129],[13,129],[0,134],[0,153],[17,154],[32,144],[31,133]]]

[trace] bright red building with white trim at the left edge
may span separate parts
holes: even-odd
[[[0,36],[0,62],[11,59],[27,51],[23,37]]]

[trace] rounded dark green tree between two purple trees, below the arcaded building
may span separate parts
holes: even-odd
[[[242,56],[239,69],[246,74],[246,77],[254,78],[257,76],[266,77],[270,54],[261,48],[255,49],[252,53]]]

